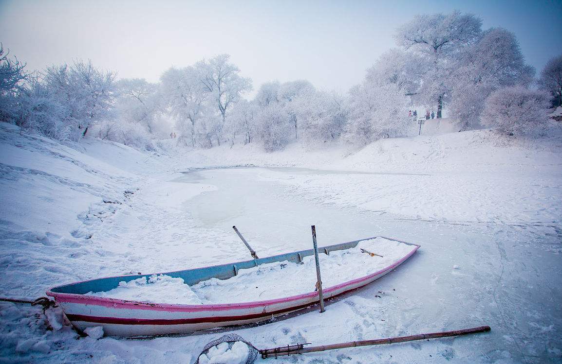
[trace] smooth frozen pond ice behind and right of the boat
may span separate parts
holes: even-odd
[[[183,203],[193,229],[219,238],[202,237],[185,251],[214,264],[250,257],[232,225],[260,257],[310,248],[311,224],[320,246],[377,235],[422,245],[396,271],[333,303],[322,315],[310,312],[239,334],[271,346],[272,335],[279,344],[303,339],[319,344],[487,324],[490,334],[398,345],[404,356],[395,358],[431,361],[424,359],[431,352],[441,360],[461,362],[547,362],[560,357],[562,259],[549,251],[560,245],[559,235],[534,224],[410,219],[358,207],[357,201],[371,198],[368,192],[345,203],[345,196],[327,199],[321,188],[306,188],[307,181],[326,176],[337,177],[334,183],[364,183],[369,174],[229,168],[189,172],[174,180],[216,187]],[[396,354],[393,350],[377,348],[373,358],[388,358]],[[359,349],[343,355],[352,353]],[[334,362],[338,354],[332,354]],[[298,360],[314,358],[320,356]]]

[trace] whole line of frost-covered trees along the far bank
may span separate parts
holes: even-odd
[[[562,105],[562,55],[535,78],[515,34],[482,29],[477,16],[420,15],[396,30],[389,49],[346,94],[309,81],[268,82],[252,89],[227,54],[169,68],[159,82],[117,79],[92,62],[27,72],[0,47],[0,120],[58,140],[88,133],[139,149],[173,137],[212,148],[259,143],[266,151],[291,142],[354,144],[407,136],[411,105],[437,118],[447,110],[463,130],[479,125],[509,135],[545,125],[547,108]],[[170,130],[170,122],[173,130]]]

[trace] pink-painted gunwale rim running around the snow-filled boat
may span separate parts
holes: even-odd
[[[401,243],[404,243],[406,245],[411,245],[411,246],[414,246],[414,248],[408,254],[403,256],[400,260],[394,262],[393,264],[391,264],[391,265],[389,265],[389,266],[387,266],[383,269],[380,269],[380,270],[378,270],[374,273],[371,273],[369,275],[365,275],[364,277],[359,277],[359,278],[355,278],[355,279],[352,279],[352,280],[348,280],[346,282],[343,282],[343,283],[340,283],[340,284],[337,284],[337,285],[333,285],[331,287],[327,287],[327,288],[323,289],[323,292],[324,292],[325,296],[328,296],[330,293],[332,293],[334,291],[337,291],[338,289],[345,288],[348,285],[353,285],[353,284],[356,284],[356,283],[360,283],[364,280],[369,280],[371,278],[376,277],[377,275],[380,275],[382,273],[385,273],[389,270],[392,270],[392,269],[396,268],[398,265],[402,264],[402,262],[409,259],[409,257],[411,257],[420,248],[420,245],[415,244],[415,243],[409,243],[409,242],[401,241],[399,239],[389,238],[389,237],[384,237],[384,236],[375,236],[375,237],[364,238],[364,239],[354,240],[354,241],[350,241],[350,242],[338,243],[338,244],[334,244],[334,245],[320,247],[319,251],[324,250],[324,249],[329,249],[330,247],[334,247],[334,246],[345,245],[345,244],[348,244],[348,243],[359,243],[361,241],[366,241],[366,240],[375,239],[375,238],[379,238],[379,237],[384,238],[384,239],[388,239],[388,240],[392,240],[392,241],[401,242]],[[345,250],[345,249],[341,249],[341,250]],[[287,255],[287,254],[291,254],[291,253],[298,253],[298,252],[302,252],[302,251],[278,254],[278,255],[273,255],[273,256],[270,256],[270,257],[266,257],[266,258],[275,258],[275,257],[278,257],[278,256],[283,256],[283,255]],[[252,260],[239,261],[239,262],[233,262],[233,263],[228,263],[228,264],[211,265],[211,266],[194,268],[194,269],[206,269],[206,268],[212,268],[212,267],[216,267],[216,266],[239,264],[239,263],[244,263],[244,262],[252,262]],[[183,272],[183,271],[186,271],[186,270],[191,270],[191,269],[182,269],[182,270],[175,270],[175,271],[169,271],[169,272],[163,272],[163,273],[152,273],[152,274],[172,274],[172,273]],[[152,275],[152,274],[143,274],[142,276],[145,277],[147,275]],[[295,296],[274,298],[272,300],[264,300],[264,301],[214,303],[214,304],[211,304],[211,305],[205,305],[205,304],[203,304],[203,305],[184,305],[184,304],[181,304],[181,303],[153,303],[153,302],[143,302],[143,301],[121,300],[119,298],[110,298],[110,297],[87,296],[86,294],[80,294],[80,293],[53,292],[53,289],[57,289],[57,288],[60,288],[60,287],[69,287],[71,285],[80,284],[80,283],[84,283],[84,282],[92,282],[94,280],[121,278],[121,277],[128,278],[128,277],[131,277],[131,275],[116,275],[116,276],[112,276],[112,277],[87,279],[87,280],[83,280],[83,281],[79,281],[79,282],[57,285],[56,287],[49,288],[46,293],[47,293],[47,296],[51,296],[51,297],[55,298],[55,301],[58,301],[58,302],[79,303],[79,304],[82,304],[82,305],[95,305],[95,306],[104,306],[104,307],[112,307],[112,308],[129,308],[129,309],[132,309],[132,310],[176,311],[176,312],[223,311],[223,310],[244,309],[244,308],[271,306],[271,305],[275,305],[275,304],[278,304],[278,303],[288,303],[288,302],[292,302],[292,301],[303,300],[305,298],[318,297],[318,292],[312,291],[312,292],[297,294]],[[350,289],[348,291],[351,291],[351,290],[352,289]],[[327,298],[330,298],[330,297],[327,297]]]

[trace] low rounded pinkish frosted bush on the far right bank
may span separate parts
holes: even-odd
[[[504,135],[531,135],[547,123],[548,94],[523,86],[505,87],[486,100],[482,125]]]

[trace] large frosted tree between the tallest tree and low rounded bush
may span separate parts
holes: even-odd
[[[534,68],[525,64],[515,34],[502,28],[485,31],[462,49],[452,72],[451,114],[469,129],[478,121],[486,98],[501,87],[528,86]]]

